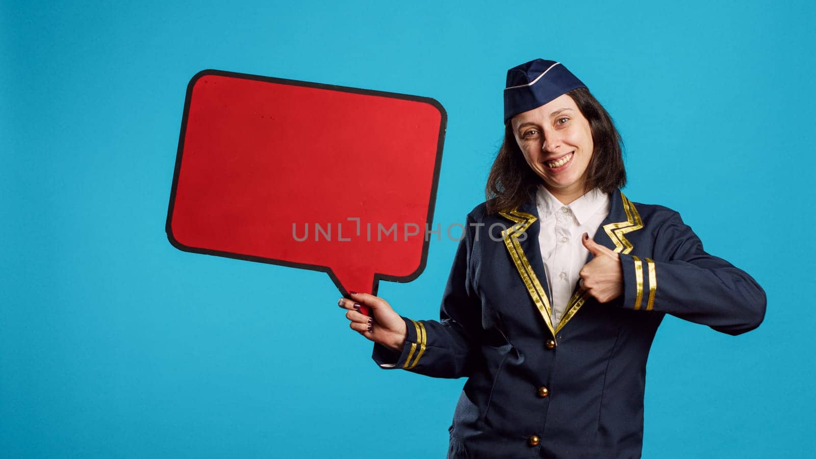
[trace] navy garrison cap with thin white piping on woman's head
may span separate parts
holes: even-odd
[[[576,87],[587,85],[554,60],[530,60],[513,67],[508,70],[508,84],[504,88],[504,123]]]

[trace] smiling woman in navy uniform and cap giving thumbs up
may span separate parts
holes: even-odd
[[[563,65],[510,69],[504,108],[489,199],[468,214],[441,321],[367,294],[339,305],[381,367],[468,377],[448,457],[640,457],[663,316],[737,335],[761,323],[765,292],[704,252],[677,212],[620,192],[619,134]]]

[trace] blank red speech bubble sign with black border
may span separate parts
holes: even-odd
[[[413,280],[446,121],[427,97],[204,70],[187,88],[167,237],[325,271],[344,295]]]

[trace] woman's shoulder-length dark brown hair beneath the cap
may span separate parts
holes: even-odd
[[[587,166],[587,183],[584,192],[593,188],[611,193],[626,185],[626,170],[623,168],[623,140],[615,129],[610,114],[585,87],[566,93],[587,118],[592,130],[595,148]],[[504,126],[504,141],[490,175],[487,176],[485,195],[487,212],[508,212],[524,203],[535,192],[542,180],[527,164],[512,132],[512,120]]]

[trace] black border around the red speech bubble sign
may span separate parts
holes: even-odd
[[[339,289],[339,291],[344,295],[348,296],[348,292],[344,289],[343,285],[339,283],[339,280],[335,276],[335,273],[331,270],[328,266],[321,266],[321,265],[307,265],[304,263],[292,263],[290,261],[282,261],[276,260],[273,258],[264,258],[261,256],[249,256],[249,255],[242,255],[240,253],[232,253],[232,252],[222,252],[218,250],[211,250],[199,247],[189,247],[182,243],[180,243],[175,236],[173,235],[173,230],[171,228],[171,221],[173,220],[173,207],[175,204],[175,189],[179,183],[179,173],[181,168],[181,154],[184,151],[184,136],[187,132],[187,118],[190,110],[190,99],[193,96],[193,86],[195,86],[196,82],[199,78],[202,78],[205,75],[217,75],[220,77],[228,77],[228,78],[242,78],[242,79],[249,79],[249,80],[257,80],[262,82],[276,82],[282,84],[288,84],[292,86],[302,86],[302,87],[314,87],[317,89],[328,89],[331,91],[344,91],[344,92],[352,92],[354,94],[365,94],[367,96],[382,96],[382,97],[389,97],[392,99],[403,99],[403,100],[414,100],[416,102],[423,102],[428,105],[432,105],[434,108],[439,110],[441,114],[441,120],[439,124],[439,139],[437,140],[437,158],[436,163],[433,166],[433,178],[432,178],[432,185],[431,185],[431,200],[428,203],[428,219],[426,220],[427,223],[431,223],[433,221],[433,210],[434,206],[436,205],[437,201],[437,188],[439,185],[439,172],[442,163],[442,146],[445,144],[445,132],[447,129],[448,123],[448,114],[445,111],[445,108],[436,100],[430,97],[422,97],[422,96],[410,96],[407,94],[399,94],[396,92],[385,92],[385,91],[374,91],[370,89],[361,89],[357,87],[344,87],[344,86],[335,86],[331,84],[323,84],[317,82],[303,82],[299,80],[290,80],[285,78],[273,78],[273,77],[262,77],[259,75],[251,75],[251,74],[239,74],[236,72],[226,72],[224,70],[214,70],[214,69],[206,69],[198,72],[197,74],[193,75],[193,78],[190,79],[190,82],[187,85],[187,96],[184,98],[184,114],[181,118],[181,132],[179,135],[179,149],[175,156],[175,171],[173,172],[173,185],[170,191],[170,204],[167,207],[167,222],[165,225],[165,230],[167,233],[167,238],[170,240],[170,243],[173,247],[182,250],[184,252],[193,252],[193,253],[202,253],[205,255],[215,255],[215,256],[225,256],[227,258],[235,258],[237,260],[246,260],[246,261],[256,261],[259,263],[268,263],[270,265],[282,265],[282,266],[289,266],[291,268],[300,268],[304,270],[313,270],[313,271],[322,271],[326,274],[329,274],[331,281],[335,283],[335,286]],[[430,241],[424,238],[424,242],[422,244],[422,258],[419,260],[419,267],[407,276],[399,277],[399,276],[389,276],[386,274],[375,273],[374,274],[374,284],[371,286],[371,294],[376,295],[377,289],[379,287],[379,281],[381,280],[388,280],[392,282],[410,282],[419,277],[419,274],[425,270],[425,265],[428,262],[428,244]]]

